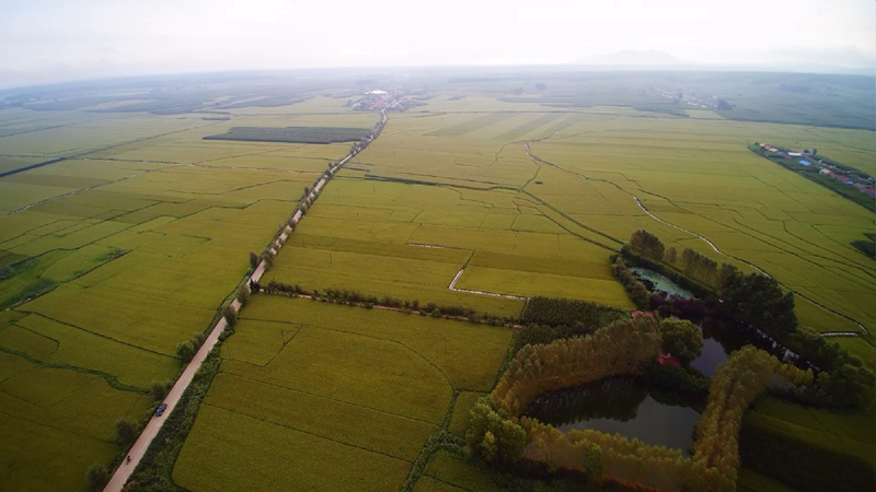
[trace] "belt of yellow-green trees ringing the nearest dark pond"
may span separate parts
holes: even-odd
[[[645,321],[644,325],[639,321],[637,325],[639,329],[650,333],[650,337],[639,339],[639,342],[644,341],[641,344],[643,354],[647,352],[647,347],[654,350],[657,341],[658,330],[654,325],[650,321]],[[612,340],[619,336],[623,340],[621,331],[620,326],[604,329],[604,333],[610,333]],[[587,379],[585,374],[598,377],[612,373],[606,365],[620,363],[615,370],[629,371],[630,366],[625,364],[636,358],[632,352],[637,352],[613,349],[611,344],[604,343],[586,348],[581,344],[576,348],[584,349],[584,352],[574,358],[567,343],[555,342],[552,345],[553,350],[541,348],[538,352],[544,359],[534,362],[529,351],[521,351],[518,363],[508,367],[503,379],[534,382],[529,386],[551,390],[564,384],[577,385],[579,380]],[[595,367],[593,372],[574,363],[580,359],[601,359],[604,352],[613,352],[619,356],[602,359],[602,365]],[[626,358],[622,352],[631,353]],[[561,360],[566,363],[560,363]],[[523,361],[523,365],[520,361]],[[708,391],[705,411],[696,426],[693,455],[690,457],[684,457],[678,449],[646,445],[619,434],[609,435],[592,430],[573,430],[564,434],[534,419],[518,419],[517,411],[523,407],[520,403],[529,395],[521,390],[519,384],[505,385],[496,397],[491,395],[475,405],[470,415],[466,445],[472,453],[487,461],[505,465],[520,460],[540,462],[550,472],[573,470],[584,473],[599,485],[614,484],[634,490],[645,487],[667,491],[735,491],[742,417],[780,366],[779,361],[766,352],[746,347],[734,352],[718,367]],[[576,367],[577,373],[572,367]],[[539,374],[539,377],[529,374]]]

